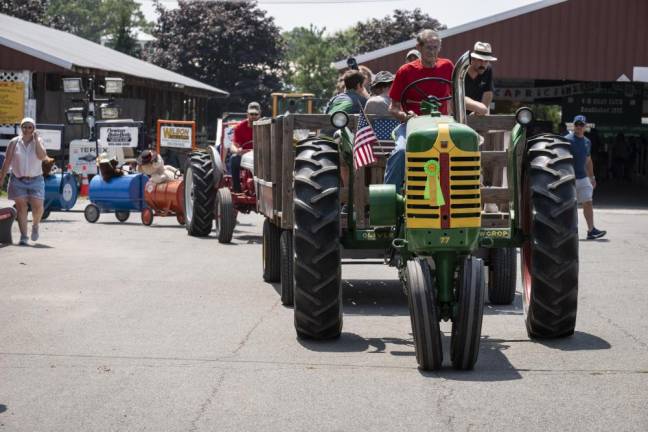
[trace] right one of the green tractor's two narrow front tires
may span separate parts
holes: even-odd
[[[461,264],[457,280],[457,315],[452,320],[450,355],[452,366],[472,369],[479,357],[484,316],[484,262],[469,256]]]

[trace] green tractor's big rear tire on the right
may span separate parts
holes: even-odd
[[[578,303],[578,213],[570,144],[556,135],[528,143],[522,223],[524,312],[529,337],[569,336]]]

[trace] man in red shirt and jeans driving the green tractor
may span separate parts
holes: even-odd
[[[434,30],[423,30],[416,36],[416,49],[420,51],[421,58],[406,63],[398,69],[389,91],[391,98],[389,111],[401,121],[401,125],[396,129],[396,147],[387,160],[385,183],[396,185],[397,191],[403,187],[405,177],[407,120],[421,114],[420,102],[428,96],[436,96],[439,99],[441,114],[450,114],[448,101],[452,98],[454,65],[450,60],[439,57],[441,37]],[[427,80],[413,84],[422,79]],[[473,106],[471,102],[466,100],[466,107],[469,110],[485,114],[485,109]]]

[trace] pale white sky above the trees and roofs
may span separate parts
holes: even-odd
[[[139,0],[142,12],[155,20],[152,0]],[[295,27],[326,27],[333,33],[351,27],[358,21],[391,15],[394,9],[420,8],[449,28],[515,9],[538,0],[259,0],[258,6],[275,18],[282,30]],[[177,6],[175,0],[162,0],[167,8]]]

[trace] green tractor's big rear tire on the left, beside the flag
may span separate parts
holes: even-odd
[[[295,329],[302,338],[342,332],[340,284],[340,173],[334,143],[297,147],[294,180]]]

